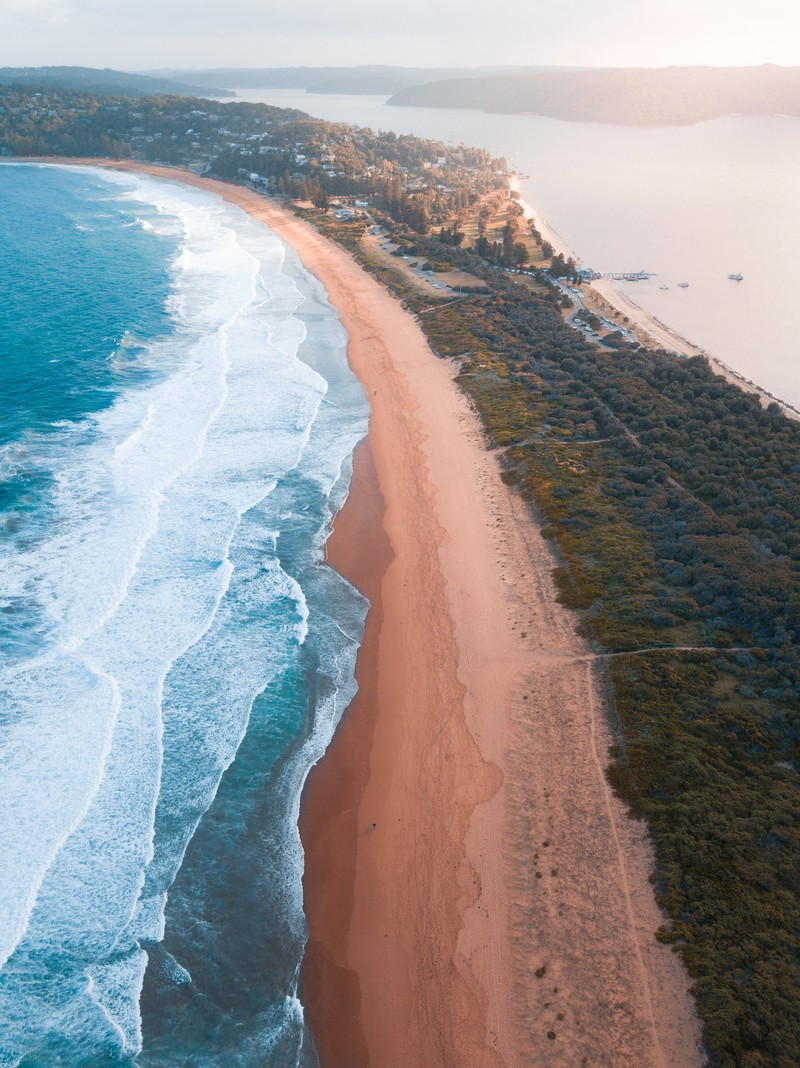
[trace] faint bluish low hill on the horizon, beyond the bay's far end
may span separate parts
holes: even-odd
[[[160,78],[185,78],[195,85],[224,85],[228,89],[304,89],[308,93],[396,93],[410,85],[454,78],[485,78],[491,75],[528,75],[552,69],[531,67],[223,67],[217,70],[155,70]]]

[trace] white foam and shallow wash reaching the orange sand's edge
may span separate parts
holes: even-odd
[[[4,560],[9,587],[47,619],[47,641],[5,679],[18,714],[3,740],[0,815],[22,830],[6,844],[9,1064],[31,1049],[53,1063],[130,1057],[142,1042],[142,1063],[170,1063],[142,1035],[142,947],[153,954],[170,934],[170,886],[256,701],[258,729],[280,724],[262,768],[279,801],[253,863],[292,936],[285,952],[297,953],[299,787],[352,692],[363,623],[362,599],[321,566],[366,425],[324,294],[219,198],[130,175],[98,182],[142,233],[179,225],[182,248],[172,328],[141,355],[152,380],[57,431],[48,527]],[[309,673],[324,680],[316,713],[270,707],[270,687]],[[297,960],[283,970],[296,975]],[[164,981],[179,996],[206,983],[198,972],[174,961],[177,978]],[[262,1007],[287,1051],[302,1046],[295,994],[292,980]],[[231,1010],[219,1012],[224,1032]],[[224,1063],[260,1063],[248,1051],[272,1039],[253,1026]],[[160,1049],[163,1036],[151,1037]]]

